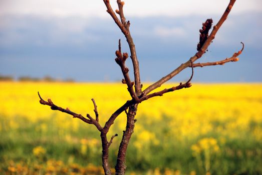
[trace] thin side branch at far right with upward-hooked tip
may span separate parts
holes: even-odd
[[[229,58],[225,58],[225,59],[223,59],[223,60],[220,60],[220,61],[215,61],[215,62],[204,62],[204,63],[200,63],[200,62],[198,62],[198,63],[194,63],[192,66],[193,67],[203,67],[203,66],[207,66],[207,65],[224,65],[224,63],[226,63],[226,62],[233,62],[233,61],[238,61],[238,55],[239,54],[241,54],[241,52],[243,51],[243,49],[244,49],[244,43],[243,42],[241,42],[241,44],[242,44],[242,48],[241,48],[241,50],[239,50],[238,52],[235,52],[231,57],[229,57]],[[191,66],[190,66],[191,67]]]

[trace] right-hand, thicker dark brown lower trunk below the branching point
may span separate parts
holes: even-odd
[[[127,145],[130,140],[130,137],[132,133],[134,132],[134,126],[135,126],[135,115],[137,111],[137,105],[133,104],[129,106],[128,114],[127,114],[127,124],[126,124],[126,130],[123,131],[123,137],[122,141],[119,146],[118,155],[117,155],[117,163],[115,166],[116,169],[116,175],[124,175],[125,174],[125,159],[126,159],[126,150]]]

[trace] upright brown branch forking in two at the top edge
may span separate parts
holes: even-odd
[[[133,41],[133,38],[131,36],[130,30],[129,30],[129,26],[130,26],[130,22],[125,21],[125,17],[124,17],[124,12],[123,12],[123,5],[124,2],[121,0],[117,0],[118,3],[118,10],[116,10],[116,12],[120,15],[121,20],[118,19],[118,17],[116,16],[116,13],[113,11],[109,0],[103,0],[106,7],[107,7],[107,12],[112,16],[112,18],[114,19],[114,21],[116,22],[116,24],[118,25],[118,27],[121,29],[121,31],[123,32],[123,34],[125,35],[126,39],[127,39],[127,43],[129,45],[130,48],[130,52],[131,52],[131,60],[133,63],[133,69],[134,69],[134,77],[135,77],[135,91],[137,93],[137,95],[140,95],[141,93],[141,81],[140,81],[140,72],[139,72],[139,63],[137,60],[137,56],[136,56],[136,48],[135,48],[135,44]]]

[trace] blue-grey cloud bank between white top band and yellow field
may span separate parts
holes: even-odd
[[[229,16],[201,59],[212,61],[231,56],[243,41],[246,48],[240,61],[200,68],[195,80],[213,81],[215,75],[217,81],[261,81],[260,17],[261,13]],[[199,39],[198,30],[206,18],[203,15],[130,18],[142,79],[156,80],[192,56]],[[217,21],[218,16],[213,19]],[[122,78],[114,62],[118,38],[122,39],[123,50],[128,51],[128,46],[110,18],[5,15],[0,16],[0,21],[0,74],[50,74],[77,80]],[[77,67],[77,71],[72,67]],[[181,73],[179,79],[187,76],[187,72]]]

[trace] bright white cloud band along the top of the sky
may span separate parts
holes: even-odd
[[[127,16],[183,16],[221,14],[229,0],[126,0]],[[43,16],[107,17],[103,0],[1,0],[0,14],[32,14]],[[117,4],[111,0],[116,9]],[[235,14],[260,11],[261,0],[237,0]]]

